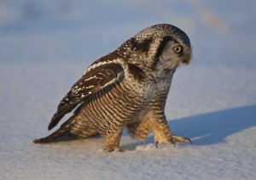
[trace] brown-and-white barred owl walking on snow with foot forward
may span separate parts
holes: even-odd
[[[179,65],[189,65],[189,37],[174,25],[160,24],[138,32],[119,48],[97,59],[61,100],[48,129],[73,115],[61,127],[34,143],[49,143],[63,134],[88,138],[100,134],[105,152],[120,151],[124,128],[131,137],[154,142],[184,143],[168,127],[166,98]]]

